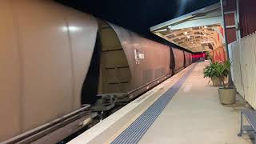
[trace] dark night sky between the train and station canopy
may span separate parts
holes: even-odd
[[[150,27],[190,13],[219,0],[56,0],[146,38],[170,44],[150,33]],[[170,44],[171,45],[171,44]]]

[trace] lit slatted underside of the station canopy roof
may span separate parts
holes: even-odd
[[[193,52],[209,51],[219,46],[220,25],[197,26],[179,30],[158,30],[154,34]]]

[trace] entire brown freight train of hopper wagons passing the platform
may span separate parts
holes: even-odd
[[[34,142],[111,113],[192,62],[188,52],[56,2],[1,1],[0,11],[0,142]]]

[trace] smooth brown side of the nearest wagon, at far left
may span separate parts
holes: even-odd
[[[80,108],[98,26],[51,1],[1,1],[0,11],[2,142]]]

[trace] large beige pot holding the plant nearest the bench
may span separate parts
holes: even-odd
[[[236,94],[235,88],[218,88],[219,100],[224,105],[234,104]]]

